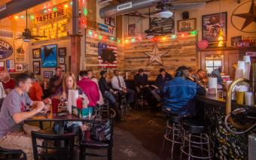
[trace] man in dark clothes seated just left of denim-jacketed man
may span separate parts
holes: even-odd
[[[155,86],[154,86],[154,90],[152,90],[152,95],[154,95],[154,98],[157,99],[157,101],[161,101],[162,98],[160,97],[160,89],[162,89],[164,83],[166,83],[166,81],[172,80],[172,75],[166,73],[166,70],[164,68],[160,68],[159,70],[159,75],[157,76],[156,82],[155,82]]]

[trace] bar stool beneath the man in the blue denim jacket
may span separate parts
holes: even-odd
[[[172,143],[172,149],[171,149],[171,158],[173,158],[173,148],[175,143],[181,144],[182,141],[182,134],[183,130],[181,128],[181,121],[184,119],[182,116],[176,116],[176,115],[169,115],[166,124],[166,134],[163,136],[163,150],[164,150],[164,143],[165,140]]]

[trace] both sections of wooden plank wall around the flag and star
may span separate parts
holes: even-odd
[[[98,42],[94,38],[87,37],[84,62],[86,69],[92,69],[97,77],[99,77],[99,71],[105,69],[98,67]],[[133,78],[139,68],[145,70],[150,80],[154,80],[157,77],[161,67],[166,68],[166,71],[172,75],[175,74],[175,69],[181,65],[192,67],[194,71],[198,69],[197,38],[195,36],[158,41],[157,47],[160,51],[169,51],[169,53],[162,56],[163,66],[157,62],[148,65],[149,57],[145,52],[151,52],[154,49],[154,42],[151,40],[125,44],[124,46],[113,41],[101,42],[117,46],[117,68],[123,76],[125,72],[128,72],[129,79]],[[111,73],[113,70],[113,68],[108,68]],[[111,76],[111,74],[109,75]]]

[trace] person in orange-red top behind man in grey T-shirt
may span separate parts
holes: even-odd
[[[32,101],[41,101],[43,96],[43,89],[39,84],[38,78],[32,71],[26,71],[25,73],[29,74],[32,80],[32,86],[29,89],[29,98],[31,98]]]

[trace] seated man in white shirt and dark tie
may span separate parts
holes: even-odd
[[[130,104],[133,102],[135,92],[132,89],[126,88],[126,84],[123,80],[123,77],[119,75],[119,71],[117,69],[114,70],[114,77],[112,77],[111,79],[111,84],[113,89],[117,90],[120,93],[120,95],[126,95],[126,103],[128,107],[130,107]]]

